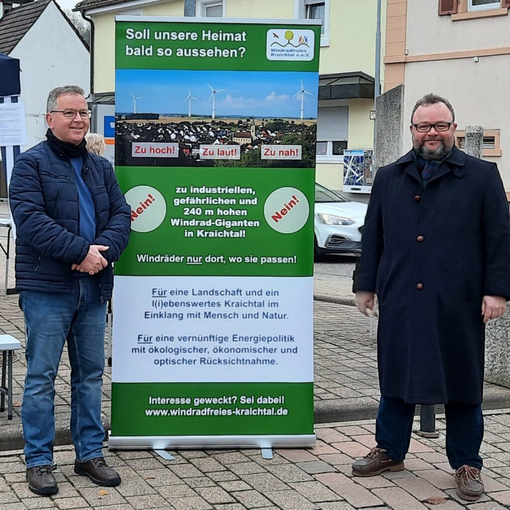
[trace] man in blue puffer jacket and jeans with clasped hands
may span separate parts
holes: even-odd
[[[27,327],[24,454],[29,489],[43,495],[58,492],[54,384],[66,339],[74,471],[102,486],[120,483],[101,452],[101,387],[112,262],[127,245],[131,223],[112,166],[85,148],[90,112],[83,90],[53,89],[46,112],[47,141],[18,157],[9,187],[16,288]]]

